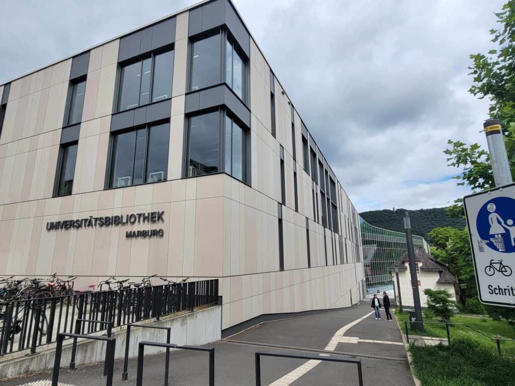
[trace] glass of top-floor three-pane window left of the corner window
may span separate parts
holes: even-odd
[[[171,98],[174,50],[120,68],[117,111]]]

